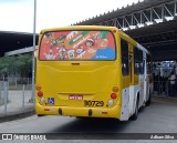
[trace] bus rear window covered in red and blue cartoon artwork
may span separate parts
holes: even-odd
[[[111,31],[45,32],[40,60],[115,60],[115,40]]]

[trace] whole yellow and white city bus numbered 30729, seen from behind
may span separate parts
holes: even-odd
[[[150,53],[115,27],[44,29],[37,52],[39,116],[127,121],[150,103]]]

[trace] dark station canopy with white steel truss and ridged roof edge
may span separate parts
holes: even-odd
[[[155,61],[177,59],[177,2],[174,0],[138,1],[75,24],[117,27],[148,48]]]

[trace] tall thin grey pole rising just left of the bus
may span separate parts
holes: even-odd
[[[33,50],[35,50],[35,17],[37,17],[37,0],[34,0],[34,19],[33,19]],[[35,82],[34,82],[34,76],[35,76],[35,58],[32,57],[32,98],[31,102],[34,103],[34,96],[35,96]]]

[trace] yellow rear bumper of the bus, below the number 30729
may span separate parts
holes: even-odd
[[[113,108],[73,108],[73,106],[44,106],[35,103],[35,113],[40,115],[65,115],[90,118],[121,118],[121,105]]]

